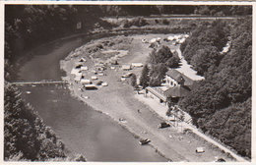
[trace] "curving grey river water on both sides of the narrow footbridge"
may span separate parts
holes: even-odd
[[[18,79],[26,82],[61,80],[64,73],[59,61],[91,38],[59,39],[33,49],[30,60],[19,70]],[[71,153],[82,153],[88,161],[166,161],[152,147],[141,146],[138,139],[108,116],[72,97],[65,85],[24,85],[21,89],[26,101]]]

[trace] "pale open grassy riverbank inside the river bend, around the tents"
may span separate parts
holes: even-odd
[[[86,77],[90,79],[94,75],[91,71],[94,68],[95,59],[92,58],[92,53],[88,54],[87,52],[91,49],[90,46],[97,46],[98,43],[105,41],[105,39],[113,41],[114,43],[123,39],[128,41],[124,41],[128,53],[120,58],[118,63],[120,65],[136,62],[145,63],[152,49],[149,48],[149,44],[142,43],[141,40],[142,38],[150,39],[157,36],[163,38],[166,35],[147,34],[115,36],[94,40],[82,46],[79,49],[80,53],[76,56],[70,54],[65,60],[61,61],[61,69],[67,74],[67,77],[64,79],[71,83],[69,88],[74,96],[92,106],[95,110],[110,116],[115,122],[131,132],[135,138],[150,138],[152,140],[151,145],[156,151],[160,152],[162,156],[169,160],[211,162],[215,161],[216,157],[224,157],[227,161],[233,161],[220,149],[212,146],[207,141],[202,140],[202,138],[177,132],[177,129],[175,128],[158,129],[158,125],[163,119],[160,118],[158,114],[154,113],[154,110],[152,110],[151,107],[140,102],[135,97],[135,91],[128,80],[124,82],[120,81],[121,75],[127,73],[125,71],[119,69],[113,70],[107,67],[104,71],[105,76],[98,77],[98,79],[108,83],[108,86],[98,86],[96,90],[81,91],[81,84],[75,83],[71,71],[82,57],[86,58],[86,65],[89,68]],[[120,46],[120,43],[114,45]],[[110,48],[118,49],[117,47],[105,47],[105,49]],[[123,47],[119,48],[122,49]],[[103,50],[104,48],[102,51]],[[141,68],[134,69],[132,72],[138,77]],[[202,154],[195,153],[195,149],[198,146],[203,146],[206,152]]]

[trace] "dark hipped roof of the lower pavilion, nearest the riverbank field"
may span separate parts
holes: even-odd
[[[184,97],[190,92],[190,89],[183,85],[176,85],[164,91],[166,97]]]

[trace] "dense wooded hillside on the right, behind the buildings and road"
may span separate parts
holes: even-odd
[[[229,42],[228,51],[223,51]],[[252,18],[201,25],[181,45],[205,77],[180,102],[203,132],[251,155]]]

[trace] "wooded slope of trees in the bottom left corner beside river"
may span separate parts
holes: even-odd
[[[4,92],[4,159],[49,161],[70,159],[64,143],[45,126],[39,116],[20,97],[18,89],[5,83]],[[82,159],[74,160],[85,160]]]

